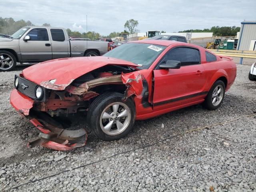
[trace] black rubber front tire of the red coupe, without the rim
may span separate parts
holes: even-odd
[[[134,122],[135,122],[135,106],[134,102],[131,98],[128,98],[126,101],[123,101],[123,94],[117,93],[117,92],[108,92],[100,95],[96,100],[92,102],[92,104],[88,108],[87,113],[87,122],[90,126],[90,130],[100,139],[104,141],[112,141],[112,140],[118,140],[120,138],[123,138],[126,136],[133,128]],[[120,134],[116,135],[109,135],[103,132],[101,128],[102,120],[101,116],[104,112],[104,109],[106,109],[109,105],[115,102],[120,102],[123,104],[126,104],[130,110],[130,120],[127,122],[127,127],[120,132]],[[110,120],[108,120],[110,122]],[[116,124],[112,124],[112,129],[115,129]],[[116,126],[117,127],[117,126]]]

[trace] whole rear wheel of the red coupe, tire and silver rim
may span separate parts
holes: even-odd
[[[225,84],[223,81],[218,80],[213,85],[208,92],[205,100],[204,106],[209,110],[216,110],[222,104],[225,96]]]

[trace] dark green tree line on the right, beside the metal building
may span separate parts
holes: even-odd
[[[240,31],[240,27],[232,26],[232,27],[220,27],[213,26],[210,29],[190,29],[179,32],[213,32],[214,36],[236,36],[236,33]]]

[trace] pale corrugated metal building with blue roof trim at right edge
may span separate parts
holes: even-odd
[[[256,51],[256,21],[241,24],[237,50]]]

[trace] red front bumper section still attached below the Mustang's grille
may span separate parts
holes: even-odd
[[[10,104],[20,114],[28,116],[30,109],[33,107],[34,100],[14,89],[11,92]]]

